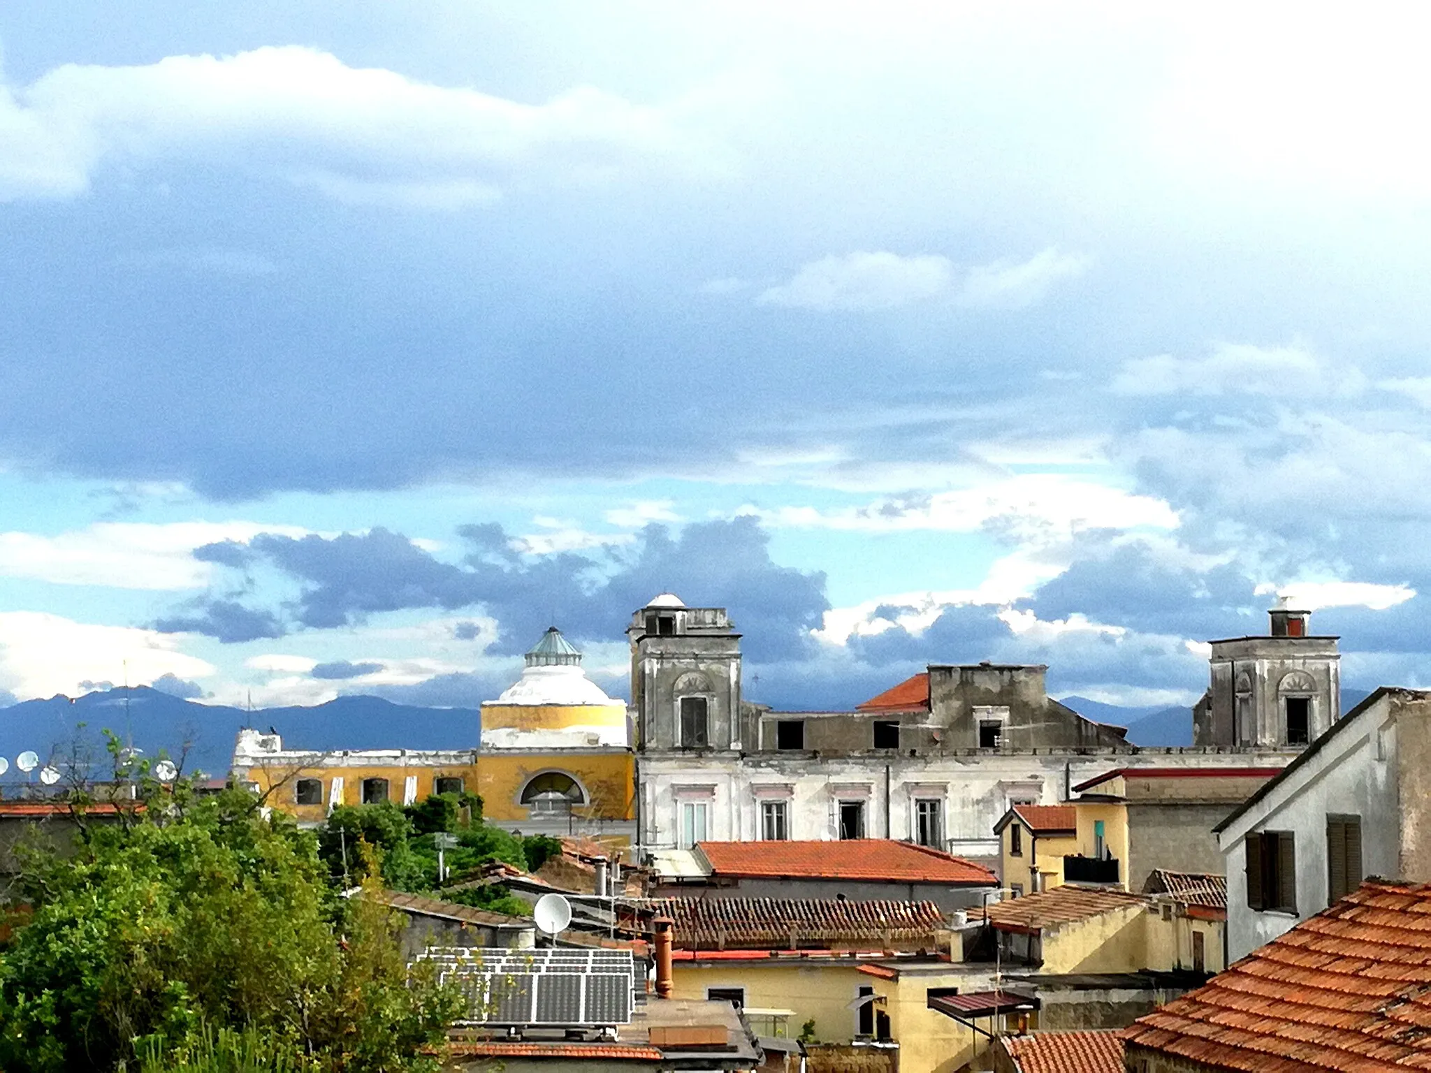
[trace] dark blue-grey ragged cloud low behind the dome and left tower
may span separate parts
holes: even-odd
[[[773,562],[768,536],[754,518],[687,525],[675,536],[648,525],[634,549],[607,558],[521,557],[498,525],[468,525],[461,535],[471,548],[461,564],[442,562],[384,528],[333,538],[260,534],[249,554],[299,581],[292,605],[298,625],[323,629],[384,611],[481,605],[501,622],[499,652],[525,651],[552,622],[572,637],[620,638],[633,611],[658,592],[675,591],[695,605],[728,608],[757,658],[794,658],[811,651],[809,629],[829,608],[824,575]],[[200,551],[229,555],[225,545]],[[272,612],[223,599],[156,628],[219,640],[282,632]]]

